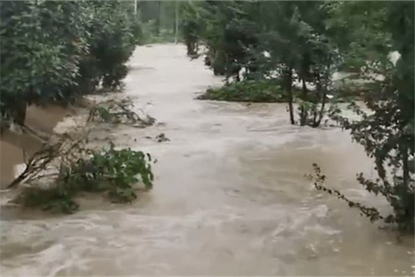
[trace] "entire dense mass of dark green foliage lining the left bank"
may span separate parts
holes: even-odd
[[[1,118],[120,86],[140,36],[131,1],[1,1]]]

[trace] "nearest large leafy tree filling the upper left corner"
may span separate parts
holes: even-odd
[[[57,100],[74,84],[87,50],[84,6],[2,1],[0,10],[1,114],[24,125],[27,105]]]

